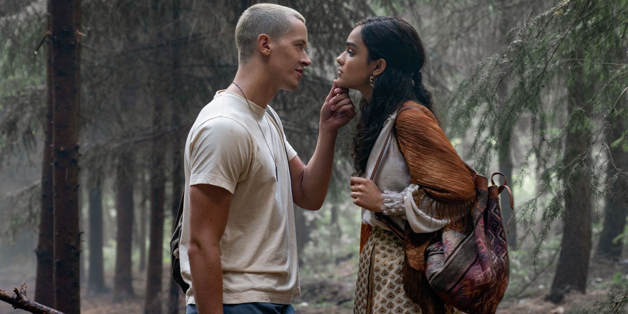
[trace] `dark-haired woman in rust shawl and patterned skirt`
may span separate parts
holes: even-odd
[[[425,250],[438,230],[461,221],[475,202],[474,181],[431,112],[421,40],[403,19],[364,19],[337,62],[338,87],[364,96],[353,145],[357,176],[350,182],[363,223],[354,312],[457,313],[431,291],[421,271],[413,278],[404,271],[403,244],[391,232],[408,225],[423,235]]]

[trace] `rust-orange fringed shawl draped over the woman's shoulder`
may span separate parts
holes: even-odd
[[[436,117],[425,106],[399,112],[394,132],[410,170],[410,183],[419,185],[416,203],[436,219],[470,217],[476,198],[475,183]],[[360,251],[371,235],[371,225],[362,225]],[[443,301],[431,291],[425,278],[425,249],[437,232],[416,234],[406,227],[404,288],[425,313],[443,313]],[[411,283],[411,284],[408,284]]]

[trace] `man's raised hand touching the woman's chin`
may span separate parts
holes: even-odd
[[[349,97],[349,89],[338,87],[333,80],[332,90],[320,109],[320,128],[337,132],[355,116],[355,107]]]

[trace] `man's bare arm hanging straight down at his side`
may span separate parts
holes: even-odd
[[[199,314],[222,314],[219,242],[227,226],[233,195],[215,185],[190,187],[190,273]]]

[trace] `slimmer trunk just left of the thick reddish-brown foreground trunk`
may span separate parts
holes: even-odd
[[[51,1],[46,1],[48,13],[51,13]],[[48,28],[50,29],[50,15]],[[53,184],[52,184],[52,133],[53,133],[53,83],[52,49],[48,41],[48,66],[46,67],[46,120],[43,129],[43,160],[41,162],[41,212],[39,237],[37,241],[37,272],[35,279],[35,301],[45,306],[55,306],[53,278]]]

